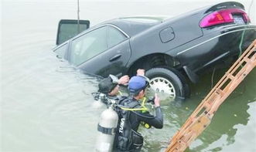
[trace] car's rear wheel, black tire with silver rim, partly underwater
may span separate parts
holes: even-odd
[[[150,87],[157,92],[169,93],[175,100],[189,97],[189,85],[184,76],[173,68],[152,68],[145,76],[150,79]]]

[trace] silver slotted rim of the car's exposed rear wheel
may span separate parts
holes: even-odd
[[[172,83],[163,77],[155,77],[150,79],[149,86],[152,90],[155,90],[157,93],[168,93],[170,97],[176,97],[176,91]]]

